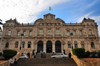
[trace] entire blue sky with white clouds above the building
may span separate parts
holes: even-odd
[[[49,11],[49,6],[53,11]],[[84,17],[94,19],[100,35],[100,0],[0,0],[3,23],[10,18],[16,18],[20,23],[34,23],[47,13],[66,23],[81,22]]]

